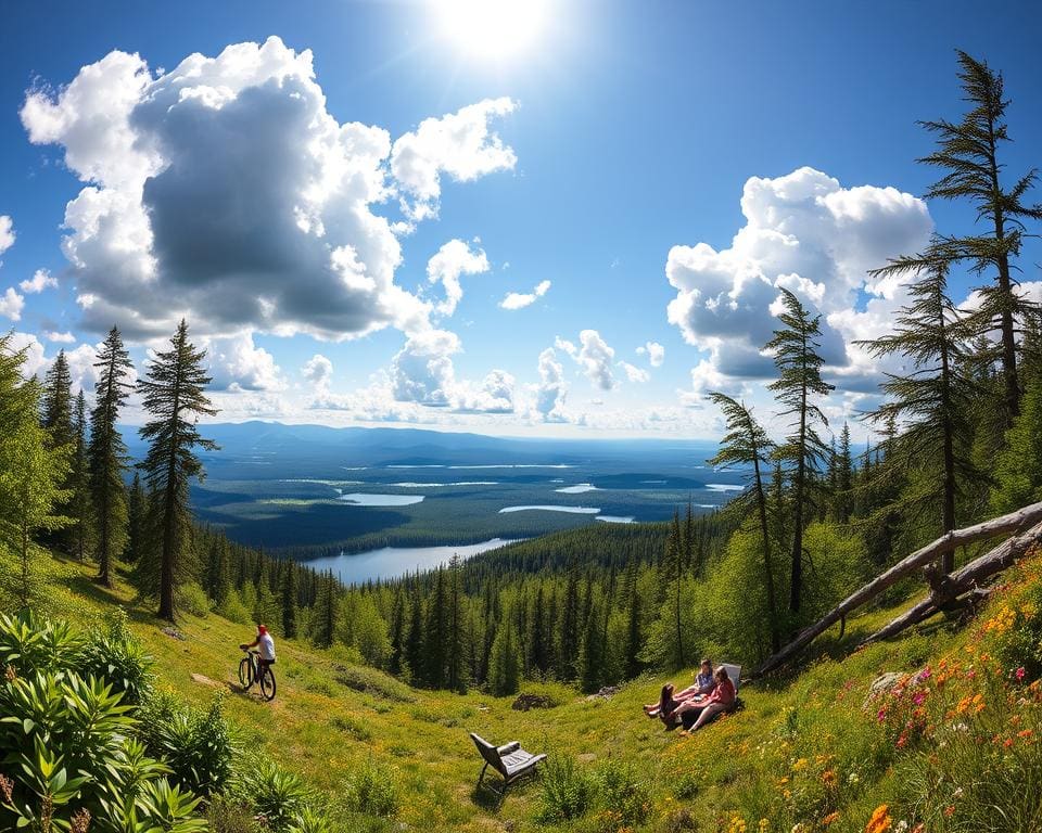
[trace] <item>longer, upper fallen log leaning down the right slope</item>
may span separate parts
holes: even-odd
[[[833,625],[850,614],[851,611],[861,607],[863,604],[879,595],[879,593],[881,593],[884,590],[892,587],[905,576],[914,573],[916,569],[926,566],[932,561],[936,561],[944,552],[948,552],[956,547],[993,538],[997,535],[1019,533],[1034,524],[1039,524],[1040,522],[1042,522],[1042,502],[1032,503],[1028,507],[1024,507],[1022,509],[1018,509],[1016,512],[1011,512],[1009,514],[1001,515],[1000,517],[993,517],[990,521],[984,521],[982,523],[975,524],[974,526],[968,526],[965,529],[954,529],[950,533],[945,533],[937,540],[931,541],[930,543],[926,544],[926,547],[916,550],[886,572],[876,576],[876,578],[874,578],[867,585],[859,590],[855,590],[853,593],[847,597],[836,607],[826,613],[821,619],[801,630],[788,644],[783,646],[780,651],[772,656],[768,656],[760,665],[760,667],[752,672],[750,679],[761,677],[764,674],[768,674],[785,665],[785,663],[787,663],[789,659],[796,656],[796,654],[814,641],[816,637],[824,633]],[[980,559],[977,559],[975,562],[971,562],[971,564],[979,561]],[[968,566],[970,565],[967,565],[967,567]],[[966,567],[963,569],[965,571]],[[954,578],[954,576],[952,578]],[[938,581],[938,584],[940,585],[942,582]]]

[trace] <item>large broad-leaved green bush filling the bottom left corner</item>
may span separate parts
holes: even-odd
[[[137,740],[123,690],[75,668],[86,656],[63,623],[0,617],[0,829],[205,830],[200,799]]]

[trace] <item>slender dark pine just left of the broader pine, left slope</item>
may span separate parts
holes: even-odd
[[[98,553],[98,580],[112,586],[112,561],[123,552],[127,535],[127,495],[123,474],[127,471],[127,447],[116,422],[119,409],[131,390],[130,355],[123,346],[119,331],[112,328],[94,361],[97,401],[90,413],[90,494],[93,503]],[[173,612],[171,612],[173,615]]]

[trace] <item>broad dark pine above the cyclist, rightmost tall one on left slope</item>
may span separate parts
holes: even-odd
[[[170,339],[170,349],[156,353],[148,368],[148,377],[138,383],[144,397],[144,409],[154,419],[140,430],[150,441],[142,463],[145,479],[155,496],[155,527],[158,535],[157,561],[145,564],[149,590],[157,591],[158,615],[174,619],[175,590],[190,577],[190,550],[187,533],[191,517],[188,487],[192,477],[202,478],[203,466],[195,447],[214,450],[217,445],[200,436],[195,420],[212,416],[203,389],[209,376],[203,370],[205,350],[196,350],[188,341],[188,324],[182,320]],[[151,556],[152,553],[150,552]],[[157,580],[156,580],[157,579]]]

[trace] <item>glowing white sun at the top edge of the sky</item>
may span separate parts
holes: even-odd
[[[537,39],[548,0],[432,0],[442,35],[482,57],[509,57]]]

